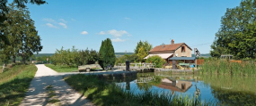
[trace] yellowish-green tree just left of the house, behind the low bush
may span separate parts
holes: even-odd
[[[148,55],[148,52],[151,49],[152,45],[150,45],[147,41],[139,41],[134,50],[134,52],[137,54],[137,61],[144,61],[144,58]]]

